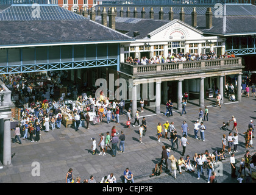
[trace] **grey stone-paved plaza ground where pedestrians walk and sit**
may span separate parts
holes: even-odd
[[[155,115],[154,108],[146,107],[143,113],[140,113],[140,121],[142,116],[146,116],[148,131],[146,136],[142,138],[143,144],[139,142],[138,126],[126,128],[126,115],[120,116],[120,124],[111,122],[107,124],[106,119],[102,124],[93,126],[90,129],[79,127],[75,130],[71,127],[50,130],[49,132],[41,132],[41,140],[37,143],[30,143],[28,140],[21,140],[23,144],[12,143],[12,166],[0,169],[0,182],[65,182],[66,172],[69,168],[73,168],[74,177],[80,176],[82,180],[94,176],[96,182],[100,182],[101,178],[113,172],[119,182],[123,178],[123,172],[128,167],[133,172],[135,182],[148,182],[148,176],[151,174],[155,163],[161,158],[162,146],[170,145],[170,141],[161,138],[161,142],[157,141],[157,123],[165,123],[173,121],[180,138],[181,124],[186,120],[189,126],[187,151],[185,155],[193,156],[195,152],[204,152],[205,149],[212,152],[216,148],[221,147],[222,134],[228,134],[227,131],[220,130],[222,122],[227,122],[234,115],[238,122],[238,138],[239,146],[236,155],[242,155],[246,151],[244,147],[243,133],[247,130],[247,126],[251,119],[255,119],[255,98],[242,98],[242,102],[229,102],[224,99],[222,108],[213,106],[215,99],[205,99],[205,105],[209,110],[209,121],[205,122],[207,130],[205,131],[205,142],[194,138],[194,121],[198,119],[199,101],[189,101],[187,105],[187,115],[180,116],[177,112],[177,104],[174,104],[174,116],[166,118],[166,116]],[[138,108],[140,110],[140,108]],[[162,105],[162,112],[165,112],[165,105]],[[134,120],[132,119],[132,122]],[[256,121],[255,121],[256,124]],[[108,150],[106,156],[92,155],[91,138],[95,137],[98,143],[99,133],[111,132],[112,126],[116,126],[118,132],[123,130],[126,135],[125,152],[119,153],[116,157],[112,157]],[[233,124],[230,123],[230,129]],[[13,137],[13,131],[12,131]],[[174,157],[179,158],[182,147],[179,151],[172,151]],[[255,151],[255,147],[250,149]],[[99,152],[99,151],[97,151]],[[229,155],[228,158],[229,160]],[[40,176],[32,176],[34,166],[32,163],[36,161],[40,165]],[[38,168],[38,166],[37,166]],[[163,168],[165,171],[165,168]],[[230,168],[224,172],[224,177],[230,177]],[[164,175],[159,179],[152,179],[150,182],[205,182],[205,179],[195,180],[196,176],[183,172],[174,180],[164,179]],[[223,178],[224,178],[223,177]],[[236,180],[224,179],[222,182],[237,182]]]

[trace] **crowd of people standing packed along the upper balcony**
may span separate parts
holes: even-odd
[[[169,52],[168,57],[165,57],[163,54],[161,56],[157,55],[155,58],[147,58],[146,56],[141,57],[141,60],[138,58],[133,59],[132,57],[127,57],[127,63],[136,63],[138,65],[152,65],[158,63],[177,63],[177,62],[190,62],[190,61],[200,61],[200,60],[216,60],[216,59],[227,59],[234,58],[235,55],[225,52],[223,55],[216,55],[215,51],[210,51],[208,54],[190,54],[187,52],[183,54],[179,52],[174,54]]]

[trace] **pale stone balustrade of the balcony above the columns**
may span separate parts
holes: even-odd
[[[146,74],[167,74],[189,72],[210,69],[225,69],[242,66],[241,58],[201,60],[178,63],[159,63],[152,65],[136,65],[135,63],[120,63],[120,71],[130,76],[142,76]]]

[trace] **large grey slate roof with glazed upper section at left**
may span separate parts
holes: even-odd
[[[40,5],[40,16],[31,5],[0,6],[0,46],[112,43],[131,37],[91,21],[58,5]]]

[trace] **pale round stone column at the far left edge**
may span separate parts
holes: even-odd
[[[11,135],[10,135],[10,119],[4,121],[4,151],[2,164],[9,166],[11,161]]]

